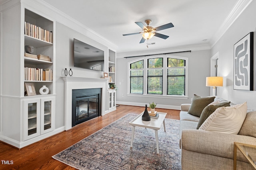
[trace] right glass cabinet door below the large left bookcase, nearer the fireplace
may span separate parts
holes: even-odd
[[[41,99],[41,135],[55,128],[55,98]]]

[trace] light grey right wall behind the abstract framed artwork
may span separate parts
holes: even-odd
[[[211,55],[219,52],[219,73],[223,76],[223,87],[219,88],[219,95],[236,104],[247,101],[248,108],[256,109],[256,91],[234,90],[234,44],[250,32],[254,32],[254,72],[255,72],[255,29],[256,29],[256,1],[244,10],[219,41],[212,47]],[[255,74],[254,74],[255,90]]]

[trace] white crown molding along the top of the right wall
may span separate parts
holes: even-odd
[[[228,28],[236,21],[236,19],[242,14],[252,0],[238,0],[234,5],[234,8],[228,14],[218,31],[214,34],[210,40],[211,48],[220,40]]]

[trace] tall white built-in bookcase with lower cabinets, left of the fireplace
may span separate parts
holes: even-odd
[[[13,3],[16,3],[15,5]],[[1,6],[1,137],[5,143],[21,148],[54,135],[55,129],[55,30],[56,21],[38,12],[37,4],[8,1]],[[33,8],[32,8],[33,6]],[[35,8],[34,8],[35,7]],[[51,32],[48,39],[26,35],[25,23]],[[48,35],[48,34],[47,34]],[[25,45],[34,47],[34,55],[49,56],[48,60],[26,57]],[[50,61],[49,61],[50,60]],[[26,79],[26,67],[52,70],[52,79]],[[36,69],[35,69],[36,70]],[[36,95],[25,94],[25,83],[33,84]],[[45,85],[49,93],[41,95]]]

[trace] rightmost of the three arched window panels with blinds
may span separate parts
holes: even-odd
[[[185,96],[186,68],[185,60],[168,58],[167,95]]]

